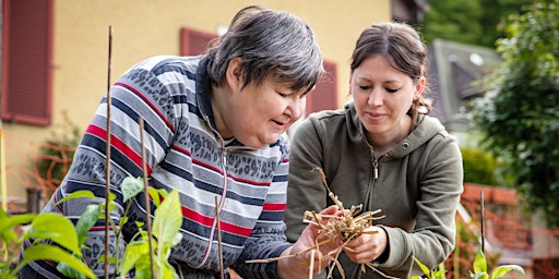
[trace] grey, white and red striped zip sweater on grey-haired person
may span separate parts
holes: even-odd
[[[278,256],[286,242],[283,214],[286,204],[288,138],[284,134],[264,148],[248,148],[224,141],[216,131],[211,106],[207,61],[200,57],[154,57],[122,75],[111,88],[110,187],[117,195],[111,219],[117,225],[126,204],[120,183],[126,177],[142,177],[139,118],[144,121],[144,148],[150,185],[180,194],[182,241],[170,262],[188,278],[213,278],[219,259],[215,223],[215,197],[219,201],[222,253],[225,267],[245,278],[275,278],[276,263],[245,264],[247,259]],[[83,135],[71,169],[44,211],[55,211],[76,221],[92,201],[72,199],[56,205],[68,193],[90,190],[104,197],[106,178],[107,98]],[[142,197],[136,197],[122,227],[123,240],[145,221]],[[114,233],[110,251],[115,251]],[[90,266],[103,276],[104,222],[88,232]],[[123,243],[120,240],[119,243]],[[122,250],[122,245],[119,247]],[[56,278],[49,263],[31,265]],[[110,268],[112,269],[112,268]]]

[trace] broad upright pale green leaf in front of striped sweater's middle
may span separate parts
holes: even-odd
[[[153,235],[159,243],[174,243],[176,234],[182,225],[182,213],[180,209],[179,193],[175,189],[155,209],[153,220]]]

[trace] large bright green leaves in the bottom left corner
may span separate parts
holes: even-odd
[[[21,229],[21,233],[17,230]],[[40,241],[48,240],[52,244]],[[39,259],[48,259],[66,263],[72,269],[79,271],[84,278],[97,278],[82,260],[81,246],[73,225],[66,217],[57,214],[23,214],[8,216],[0,208],[0,263],[1,278],[17,278],[17,272],[26,264]],[[33,241],[25,250],[20,263],[19,247],[25,241]],[[74,256],[75,255],[75,256]]]

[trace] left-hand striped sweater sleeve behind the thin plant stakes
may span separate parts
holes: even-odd
[[[111,87],[110,114],[107,114],[107,97],[99,104],[75,151],[74,161],[56,197],[49,203],[50,210],[58,210],[74,223],[87,205],[105,201],[107,118],[110,118],[110,192],[116,194],[116,208],[110,213],[110,221],[119,226],[127,204],[122,202],[120,183],[126,177],[142,177],[142,135],[146,154],[147,173],[163,160],[165,150],[171,144],[176,113],[173,97],[166,86],[151,71],[133,68]],[[139,118],[144,121],[140,132]],[[56,199],[79,190],[92,191],[96,201],[88,198],[70,199],[56,205]],[[134,223],[133,219],[128,222]],[[97,276],[104,275],[105,220],[99,219],[87,233],[84,250],[86,263]],[[116,236],[109,231],[109,257],[118,250],[123,253],[122,233]],[[114,266],[109,268],[115,270]],[[112,276],[112,275],[110,275]]]

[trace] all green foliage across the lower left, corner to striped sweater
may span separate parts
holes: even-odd
[[[121,185],[123,201],[134,198],[143,191],[143,179],[126,178]],[[132,268],[135,268],[135,278],[178,278],[175,268],[168,263],[170,250],[178,244],[182,234],[179,229],[182,221],[180,211],[180,201],[177,190],[169,194],[164,190],[148,187],[150,195],[154,197],[154,204],[157,207],[153,219],[153,254],[150,254],[148,233],[139,223],[140,232],[134,240],[126,247],[122,260],[119,263],[118,254],[115,258],[109,258],[109,263],[120,267],[120,274],[126,275]],[[160,201],[163,197],[164,201]],[[96,198],[91,191],[76,191],[67,195],[58,203],[63,203],[73,198]],[[106,203],[109,203],[109,211],[115,208],[115,194],[110,194]],[[131,204],[131,203],[129,203]],[[85,248],[87,241],[86,233],[99,218],[105,218],[105,203],[88,205],[81,218],[75,223],[64,216],[45,213],[40,215],[24,214],[17,216],[8,216],[0,209],[0,251],[2,252],[2,262],[0,263],[0,277],[7,279],[17,278],[17,272],[26,264],[40,259],[48,259],[59,263],[57,269],[69,278],[97,278],[91,268],[82,258],[82,248]],[[120,225],[127,222],[126,208],[124,217]],[[107,225],[111,226],[111,225]],[[112,225],[112,227],[115,227]],[[19,228],[22,232],[17,233]],[[119,228],[115,227],[116,233]],[[32,241],[20,263],[17,262],[19,247],[24,241]],[[49,241],[46,243],[45,241]],[[118,244],[117,244],[118,246]],[[152,276],[151,263],[154,259],[155,275]],[[103,262],[103,259],[99,259]]]

